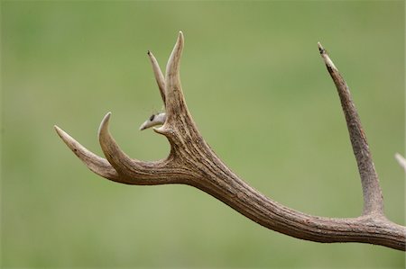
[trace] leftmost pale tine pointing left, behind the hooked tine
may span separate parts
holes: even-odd
[[[72,150],[72,152],[86,165],[88,168],[97,175],[101,175],[106,179],[123,182],[122,178],[115,171],[115,168],[111,166],[105,158],[98,157],[96,154],[83,147],[77,140],[73,139],[64,130],[61,130],[58,126],[54,126],[56,132],[60,136],[65,144]]]

